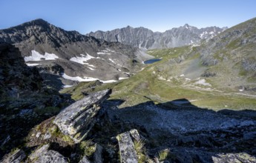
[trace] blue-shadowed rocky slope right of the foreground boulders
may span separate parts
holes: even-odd
[[[244,115],[247,111],[235,116],[233,110],[228,110],[227,115],[194,106],[187,99],[163,104],[145,102],[119,109],[122,102],[104,103],[113,127],[108,130],[109,123],[103,124],[105,137],[136,128],[145,139],[147,155],[152,158],[162,150],[168,150],[165,160],[171,162],[243,162],[256,156],[256,122]],[[97,136],[95,140],[99,140]]]

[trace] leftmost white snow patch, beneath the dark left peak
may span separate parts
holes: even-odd
[[[40,54],[36,50],[31,50],[31,56],[25,56],[24,61],[43,61],[43,60],[56,60],[59,56],[53,53],[46,53],[45,55]]]

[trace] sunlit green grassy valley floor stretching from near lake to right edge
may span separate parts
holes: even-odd
[[[112,88],[111,99],[122,99],[125,102],[119,107],[133,106],[143,102],[154,101],[156,103],[170,102],[175,99],[188,99],[197,107],[212,110],[233,109],[256,110],[255,97],[243,96],[232,90],[218,90],[194,84],[180,77],[183,67],[199,56],[197,47],[178,47],[164,50],[149,50],[148,53],[157,58],[162,58],[154,64],[149,64],[140,73],[114,84],[102,84],[94,90]],[[180,63],[179,59],[186,59]],[[206,80],[209,82],[209,79]],[[62,93],[73,94],[74,99],[81,99],[81,90],[85,90],[89,83],[81,83],[76,88],[68,88]]]

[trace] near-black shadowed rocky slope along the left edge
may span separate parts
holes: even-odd
[[[27,67],[18,48],[0,43],[0,160],[24,147],[30,130],[73,102],[48,89],[36,67]]]

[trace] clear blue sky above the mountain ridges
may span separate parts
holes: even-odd
[[[82,34],[128,25],[232,27],[256,17],[255,0],[0,0],[0,7],[0,29],[41,18]]]

